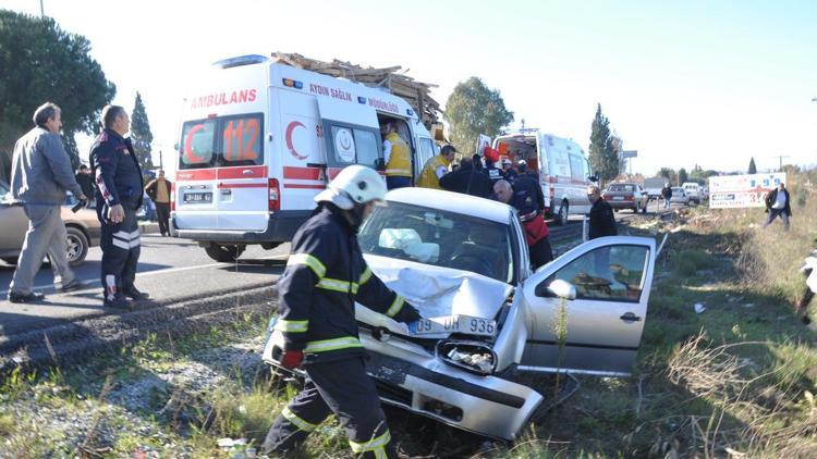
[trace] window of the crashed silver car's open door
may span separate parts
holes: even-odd
[[[582,255],[541,285],[537,296],[548,296],[547,285],[562,280],[576,287],[576,299],[638,302],[649,263],[644,246],[606,246]]]

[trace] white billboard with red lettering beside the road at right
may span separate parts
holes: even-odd
[[[785,183],[785,172],[709,177],[709,208],[766,207],[766,194]]]

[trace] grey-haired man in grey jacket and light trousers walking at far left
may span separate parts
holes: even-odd
[[[68,261],[68,234],[60,208],[70,190],[81,201],[87,197],[76,183],[71,159],[62,146],[62,113],[51,102],[34,112],[36,125],[14,145],[11,168],[11,193],[23,202],[28,216],[23,250],[9,287],[9,301],[33,302],[45,295],[33,290],[34,276],[46,253],[51,259],[54,286],[62,291],[87,287],[74,276]]]

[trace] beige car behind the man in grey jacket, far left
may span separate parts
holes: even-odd
[[[23,249],[25,233],[28,231],[28,218],[19,202],[9,194],[9,184],[0,181],[0,260],[16,264]],[[61,209],[62,221],[68,233],[68,258],[72,266],[82,264],[88,249],[99,245],[101,226],[96,211],[80,209],[76,213],[71,208],[77,202],[69,191],[65,204]]]

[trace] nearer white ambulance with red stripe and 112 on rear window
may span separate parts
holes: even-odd
[[[263,55],[216,62],[184,101],[172,232],[217,261],[289,241],[313,198],[350,164],[383,170],[380,125],[395,122],[416,178],[435,154],[403,99]]]

